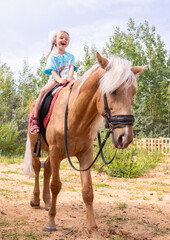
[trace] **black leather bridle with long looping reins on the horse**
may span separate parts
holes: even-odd
[[[86,169],[77,169],[76,167],[74,167],[74,165],[73,165],[73,163],[70,159],[69,152],[68,152],[68,144],[67,144],[68,104],[69,104],[69,99],[70,99],[71,90],[72,90],[73,85],[74,85],[74,83],[70,86],[70,92],[69,92],[68,99],[67,99],[67,104],[66,104],[65,121],[64,121],[64,142],[65,142],[66,155],[67,155],[67,158],[68,158],[68,161],[69,161],[71,167],[76,171],[82,172],[82,171],[89,170],[93,166],[93,164],[96,162],[96,160],[97,160],[97,158],[100,154],[101,154],[101,157],[102,157],[102,160],[103,160],[104,164],[110,164],[116,156],[117,149],[114,153],[113,158],[109,162],[106,162],[106,160],[104,158],[104,155],[103,155],[103,152],[102,152],[102,149],[103,149],[107,139],[109,138],[110,134],[113,133],[114,129],[121,128],[121,127],[124,127],[126,125],[133,126],[133,123],[134,123],[135,119],[134,119],[133,115],[114,115],[114,116],[111,116],[110,109],[109,109],[108,102],[107,102],[107,96],[106,96],[106,93],[105,93],[103,95],[103,98],[104,98],[104,116],[105,116],[105,120],[106,120],[105,128],[107,128],[108,131],[107,131],[106,136],[105,136],[102,143],[101,143],[100,132],[98,131],[99,151],[98,151],[95,159],[93,160],[93,162],[90,164],[90,166]]]

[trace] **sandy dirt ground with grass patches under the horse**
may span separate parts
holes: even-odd
[[[170,239],[170,160],[137,179],[94,170],[92,178],[96,222],[105,239]],[[79,173],[64,161],[61,179],[57,232],[44,233],[48,213],[43,202],[40,209],[29,205],[34,179],[22,174],[22,164],[0,163],[0,239],[89,239]],[[41,192],[42,181],[41,173]]]

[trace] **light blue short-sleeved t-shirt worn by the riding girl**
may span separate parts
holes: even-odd
[[[47,64],[44,70],[44,73],[51,75],[51,71],[54,70],[60,76],[60,73],[64,68],[68,68],[69,66],[74,66],[74,71],[76,71],[77,67],[75,66],[75,58],[73,54],[65,52],[63,55],[58,55],[56,53],[51,53],[48,57]],[[53,80],[53,76],[50,76],[50,80]]]

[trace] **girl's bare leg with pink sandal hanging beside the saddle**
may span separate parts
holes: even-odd
[[[40,102],[44,96],[44,94],[51,90],[52,88],[54,88],[55,86],[57,85],[57,83],[55,81],[50,81],[48,82],[40,91],[40,94],[35,102],[35,107],[34,107],[34,116],[32,116],[32,119],[31,119],[31,133],[32,134],[36,134],[36,133],[39,133],[39,127],[38,127],[38,109],[39,109],[39,105],[40,105]]]

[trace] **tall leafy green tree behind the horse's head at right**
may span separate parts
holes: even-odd
[[[133,103],[136,128],[143,136],[168,136],[168,61],[167,51],[155,27],[147,21],[135,26],[130,19],[127,32],[115,28],[103,54],[126,57],[134,65],[149,64],[138,78],[138,92]]]

